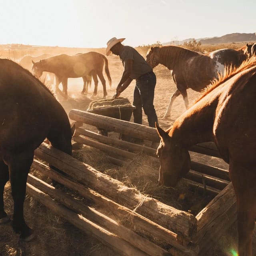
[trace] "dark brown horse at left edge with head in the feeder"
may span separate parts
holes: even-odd
[[[10,179],[14,214],[12,227],[22,240],[33,238],[23,216],[26,180],[34,150],[44,141],[72,154],[74,126],[42,82],[15,62],[0,59],[0,224],[9,220],[3,192]]]

